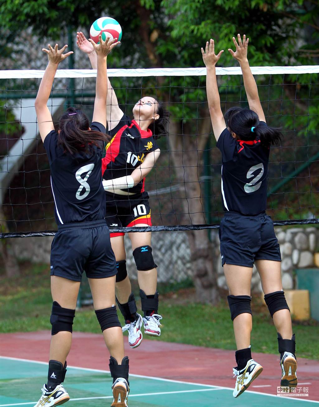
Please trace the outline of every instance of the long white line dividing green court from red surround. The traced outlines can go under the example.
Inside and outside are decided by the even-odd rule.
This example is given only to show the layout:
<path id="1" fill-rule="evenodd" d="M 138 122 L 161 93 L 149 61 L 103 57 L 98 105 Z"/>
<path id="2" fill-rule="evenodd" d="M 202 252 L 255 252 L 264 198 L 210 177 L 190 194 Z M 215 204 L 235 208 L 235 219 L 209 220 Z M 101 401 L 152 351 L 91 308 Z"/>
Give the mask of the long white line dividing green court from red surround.
<path id="1" fill-rule="evenodd" d="M 8 359 L 8 360 L 16 360 L 16 361 L 20 361 L 20 362 L 31 362 L 31 363 L 38 363 L 40 365 L 48 365 L 48 362 L 39 362 L 36 360 L 31 360 L 31 359 L 21 359 L 21 358 L 15 358 L 15 357 L 8 357 L 8 356 L 0 356 L 0 359 Z M 90 369 L 90 368 L 80 368 L 79 366 L 69 366 L 69 368 L 73 368 L 73 369 L 79 369 L 79 370 L 86 370 L 87 372 L 97 372 L 97 373 L 110 373 L 109 370 L 100 370 L 100 369 Z M 193 383 L 193 382 L 186 382 L 186 381 L 180 381 L 180 380 L 173 380 L 173 379 L 163 379 L 161 377 L 154 377 L 154 376 L 144 376 L 142 374 L 132 374 L 130 373 L 130 376 L 132 377 L 141 377 L 142 379 L 152 379 L 152 380 L 158 380 L 158 381 L 167 381 L 170 383 L 183 383 L 183 384 L 191 384 L 194 386 L 202 386 L 202 387 L 209 387 L 212 389 L 223 389 L 223 390 L 231 390 L 233 391 L 233 387 L 224 387 L 224 386 L 213 386 L 210 384 L 201 384 L 201 383 Z M 245 393 L 252 393 L 252 394 L 261 394 L 262 396 L 269 396 L 269 397 L 276 397 L 277 398 L 277 394 L 268 394 L 268 393 L 262 393 L 262 392 L 256 392 L 255 390 L 245 390 Z M 285 400 L 296 400 L 298 399 L 298 397 L 285 397 Z M 315 401 L 315 400 L 300 400 L 299 401 L 304 401 L 304 402 L 308 402 L 308 403 L 317 403 L 319 404 L 319 401 Z M 3 407 L 2 405 L 0 405 L 0 407 Z"/>

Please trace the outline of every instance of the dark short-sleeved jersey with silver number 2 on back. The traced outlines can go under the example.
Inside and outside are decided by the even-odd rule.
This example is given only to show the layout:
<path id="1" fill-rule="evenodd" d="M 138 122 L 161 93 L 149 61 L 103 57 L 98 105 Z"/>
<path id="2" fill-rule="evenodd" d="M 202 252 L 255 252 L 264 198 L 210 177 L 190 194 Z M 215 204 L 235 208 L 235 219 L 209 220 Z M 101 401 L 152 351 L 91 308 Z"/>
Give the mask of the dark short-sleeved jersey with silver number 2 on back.
<path id="1" fill-rule="evenodd" d="M 260 126 L 267 126 L 260 122 Z M 235 140 L 225 129 L 217 147 L 222 153 L 222 200 L 225 211 L 257 215 L 266 210 L 269 148 L 260 140 Z"/>

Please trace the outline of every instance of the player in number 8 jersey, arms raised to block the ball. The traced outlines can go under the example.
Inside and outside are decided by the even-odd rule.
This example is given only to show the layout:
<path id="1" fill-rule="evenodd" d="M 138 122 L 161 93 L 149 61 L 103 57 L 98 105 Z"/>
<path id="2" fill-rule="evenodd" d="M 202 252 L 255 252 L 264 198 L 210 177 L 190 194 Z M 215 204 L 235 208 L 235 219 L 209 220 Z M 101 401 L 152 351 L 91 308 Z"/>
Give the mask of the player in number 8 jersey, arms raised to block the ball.
<path id="1" fill-rule="evenodd" d="M 84 268 L 90 282 L 95 313 L 111 355 L 112 406 L 127 406 L 128 357 L 124 357 L 123 333 L 114 305 L 117 269 L 110 233 L 104 220 L 105 199 L 101 177 L 103 145 L 109 140 L 105 113 L 108 92 L 106 57 L 117 44 L 116 39 L 103 42 L 101 37 L 100 44 L 94 44 L 97 81 L 91 127 L 81 110 L 69 108 L 59 120 L 58 132 L 54 129 L 47 102 L 57 66 L 71 53 L 63 54 L 66 45 L 61 50 L 58 50 L 57 44 L 55 48 L 49 45 L 49 49 L 43 49 L 49 62 L 37 93 L 35 110 L 50 163 L 58 232 L 51 249 L 53 306 L 48 381 L 35 407 L 60 405 L 70 398 L 62 383 Z"/>

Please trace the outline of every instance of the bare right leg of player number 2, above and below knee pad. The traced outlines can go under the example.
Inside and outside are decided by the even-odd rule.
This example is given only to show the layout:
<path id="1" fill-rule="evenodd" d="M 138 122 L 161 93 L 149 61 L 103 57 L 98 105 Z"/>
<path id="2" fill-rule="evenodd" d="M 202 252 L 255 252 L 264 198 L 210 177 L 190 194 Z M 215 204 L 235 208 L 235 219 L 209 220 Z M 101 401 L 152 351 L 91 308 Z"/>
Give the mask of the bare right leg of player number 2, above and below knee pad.
<path id="1" fill-rule="evenodd" d="M 256 260 L 256 267 L 262 281 L 262 291 L 264 294 L 282 290 L 282 274 L 280 261 Z M 288 309 L 281 309 L 274 313 L 273 322 L 277 332 L 283 339 L 291 339 L 293 328 L 291 316 Z"/>

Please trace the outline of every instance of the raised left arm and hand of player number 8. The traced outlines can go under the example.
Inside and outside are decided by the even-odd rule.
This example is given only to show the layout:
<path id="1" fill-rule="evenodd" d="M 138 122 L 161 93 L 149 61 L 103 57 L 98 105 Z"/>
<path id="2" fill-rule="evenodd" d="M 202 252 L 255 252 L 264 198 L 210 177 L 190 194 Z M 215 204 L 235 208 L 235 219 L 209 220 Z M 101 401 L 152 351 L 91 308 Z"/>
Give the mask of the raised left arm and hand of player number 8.
<path id="1" fill-rule="evenodd" d="M 42 51 L 48 54 L 49 62 L 42 77 L 39 90 L 37 91 L 37 97 L 34 103 L 35 112 L 37 114 L 37 123 L 39 126 L 39 132 L 42 141 L 44 141 L 50 131 L 54 130 L 51 113 L 48 109 L 47 103 L 59 63 L 67 58 L 69 55 L 73 54 L 72 51 L 68 52 L 67 54 L 63 54 L 66 50 L 66 47 L 67 45 L 59 50 L 57 44 L 55 44 L 54 48 L 52 48 L 51 45 L 48 44 L 48 50 L 46 48 L 42 49 Z"/>

